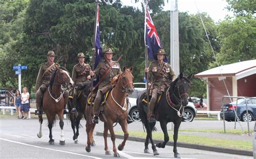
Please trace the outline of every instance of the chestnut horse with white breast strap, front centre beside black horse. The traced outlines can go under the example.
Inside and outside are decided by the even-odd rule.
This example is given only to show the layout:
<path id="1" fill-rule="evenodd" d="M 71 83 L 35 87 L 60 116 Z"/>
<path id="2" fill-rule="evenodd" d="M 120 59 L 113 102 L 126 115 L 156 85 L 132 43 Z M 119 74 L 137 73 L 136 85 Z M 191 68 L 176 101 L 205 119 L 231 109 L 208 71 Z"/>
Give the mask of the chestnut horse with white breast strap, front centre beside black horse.
<path id="1" fill-rule="evenodd" d="M 123 68 L 123 73 L 119 76 L 116 86 L 109 92 L 105 100 L 105 106 L 103 113 L 100 113 L 99 119 L 104 122 L 104 142 L 105 142 L 105 154 L 110 155 L 109 148 L 107 147 L 107 133 L 110 131 L 111 140 L 113 142 L 113 152 L 114 157 L 120 157 L 117 153 L 116 148 L 116 136 L 114 135 L 113 124 L 118 122 L 122 127 L 124 132 L 124 141 L 119 144 L 118 150 L 123 150 L 125 142 L 129 136 L 127 129 L 127 102 L 126 96 L 127 93 L 131 94 L 133 92 L 133 76 L 132 76 L 132 67 L 130 69 Z M 91 143 L 93 143 L 93 129 L 95 124 L 92 124 L 89 119 L 92 112 L 89 111 L 90 106 L 86 106 L 86 133 L 87 133 L 87 146 L 86 151 L 91 151 Z"/>

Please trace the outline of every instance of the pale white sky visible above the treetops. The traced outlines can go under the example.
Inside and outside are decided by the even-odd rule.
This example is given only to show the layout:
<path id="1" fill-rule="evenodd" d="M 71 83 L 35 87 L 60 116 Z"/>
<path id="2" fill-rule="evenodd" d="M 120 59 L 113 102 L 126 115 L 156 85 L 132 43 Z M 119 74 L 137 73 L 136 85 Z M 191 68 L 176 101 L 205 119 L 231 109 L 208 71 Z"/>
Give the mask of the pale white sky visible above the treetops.
<path id="1" fill-rule="evenodd" d="M 141 3 L 134 3 L 134 0 L 121 0 L 123 5 L 129 5 L 141 8 Z M 140 0 L 142 2 L 144 0 Z M 224 20 L 226 15 L 233 16 L 232 12 L 228 12 L 225 7 L 227 2 L 225 0 L 177 0 L 178 10 L 180 12 L 188 12 L 197 14 L 199 12 L 206 12 L 215 22 Z M 165 0 L 164 10 L 170 10 L 171 0 L 167 3 Z"/>

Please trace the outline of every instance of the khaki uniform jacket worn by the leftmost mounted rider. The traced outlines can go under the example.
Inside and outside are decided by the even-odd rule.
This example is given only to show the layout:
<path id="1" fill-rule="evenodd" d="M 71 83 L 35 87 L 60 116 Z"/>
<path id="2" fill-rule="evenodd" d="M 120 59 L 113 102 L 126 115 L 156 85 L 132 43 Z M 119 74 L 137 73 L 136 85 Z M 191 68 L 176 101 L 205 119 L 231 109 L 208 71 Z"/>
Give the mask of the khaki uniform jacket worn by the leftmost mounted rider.
<path id="1" fill-rule="evenodd" d="M 45 62 L 41 64 L 38 71 L 37 79 L 36 79 L 36 90 L 38 90 L 42 84 L 48 85 L 50 83 L 52 71 L 56 69 L 56 67 L 53 66 L 48 71 L 48 73 L 44 74 L 45 70 L 48 69 L 48 67 L 50 66 L 51 64 L 49 62 Z M 43 74 L 44 74 L 44 77 L 43 77 Z"/>

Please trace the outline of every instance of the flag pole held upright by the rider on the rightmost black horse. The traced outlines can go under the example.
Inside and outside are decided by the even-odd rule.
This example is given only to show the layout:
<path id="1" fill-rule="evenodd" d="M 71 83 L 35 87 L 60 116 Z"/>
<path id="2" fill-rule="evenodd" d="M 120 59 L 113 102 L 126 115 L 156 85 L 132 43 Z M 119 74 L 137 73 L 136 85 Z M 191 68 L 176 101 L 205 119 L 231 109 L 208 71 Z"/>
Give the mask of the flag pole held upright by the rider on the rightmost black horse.
<path id="1" fill-rule="evenodd" d="M 148 61 L 148 57 L 147 57 L 147 45 L 146 45 L 146 25 L 147 25 L 147 21 L 146 21 L 146 12 L 147 10 L 147 0 L 145 0 L 145 21 L 144 21 L 144 42 L 145 42 L 145 67 L 147 68 L 147 61 Z M 150 113 L 150 107 L 149 107 L 149 73 L 145 73 L 146 75 L 146 89 L 147 89 L 147 114 Z"/>

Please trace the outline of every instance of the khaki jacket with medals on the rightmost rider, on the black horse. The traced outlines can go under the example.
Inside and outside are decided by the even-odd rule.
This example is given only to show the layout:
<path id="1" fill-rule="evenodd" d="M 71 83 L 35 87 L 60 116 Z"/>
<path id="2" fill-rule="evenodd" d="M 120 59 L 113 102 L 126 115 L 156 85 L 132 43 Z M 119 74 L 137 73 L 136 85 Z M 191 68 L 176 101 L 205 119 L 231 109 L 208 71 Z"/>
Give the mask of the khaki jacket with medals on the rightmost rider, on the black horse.
<path id="1" fill-rule="evenodd" d="M 163 64 L 165 65 L 163 67 Z M 153 82 L 155 88 L 159 88 L 164 83 L 170 83 L 174 78 L 174 72 L 169 63 L 163 62 L 163 64 L 158 64 L 158 61 L 153 61 L 149 66 L 149 82 Z M 163 69 L 160 71 L 160 69 Z M 160 71 L 160 74 L 158 72 Z"/>

